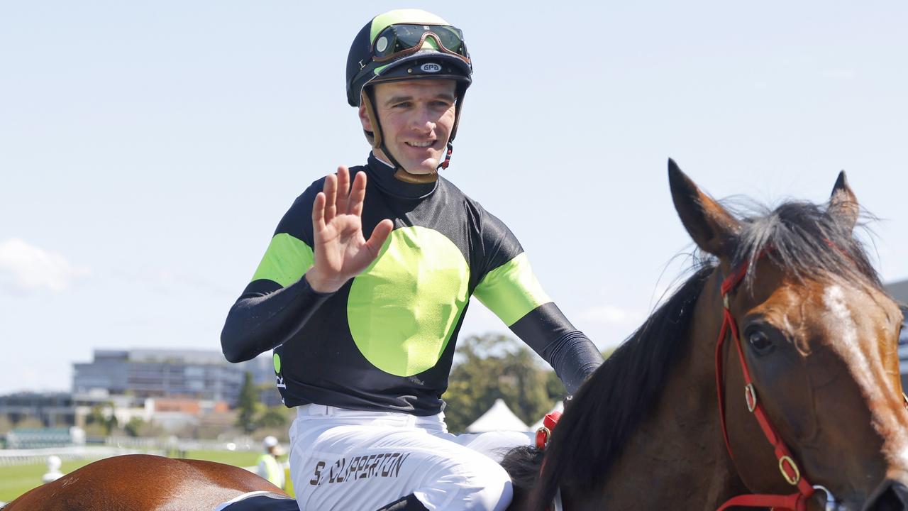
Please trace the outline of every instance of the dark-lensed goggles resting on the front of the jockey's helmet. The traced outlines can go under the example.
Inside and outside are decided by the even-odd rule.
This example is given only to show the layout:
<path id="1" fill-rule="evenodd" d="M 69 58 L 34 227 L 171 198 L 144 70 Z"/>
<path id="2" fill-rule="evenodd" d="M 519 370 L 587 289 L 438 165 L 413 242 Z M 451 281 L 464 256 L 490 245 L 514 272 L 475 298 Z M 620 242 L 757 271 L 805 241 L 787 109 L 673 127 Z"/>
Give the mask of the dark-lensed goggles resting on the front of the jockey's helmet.
<path id="1" fill-rule="evenodd" d="M 439 45 L 439 51 L 457 56 L 469 64 L 467 45 L 463 32 L 450 25 L 390 25 L 382 30 L 372 44 L 372 60 L 387 62 L 418 52 L 426 39 L 431 37 Z"/>

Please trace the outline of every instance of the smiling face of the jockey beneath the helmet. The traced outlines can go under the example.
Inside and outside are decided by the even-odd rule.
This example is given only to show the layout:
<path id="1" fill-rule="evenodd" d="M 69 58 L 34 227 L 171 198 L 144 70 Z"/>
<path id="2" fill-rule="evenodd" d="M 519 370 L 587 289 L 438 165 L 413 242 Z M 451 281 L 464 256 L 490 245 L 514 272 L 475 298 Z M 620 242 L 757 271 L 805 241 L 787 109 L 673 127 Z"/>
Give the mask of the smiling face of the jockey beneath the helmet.
<path id="1" fill-rule="evenodd" d="M 375 110 L 390 155 L 410 174 L 431 174 L 444 158 L 454 126 L 454 80 L 408 80 L 374 86 Z M 374 131 L 365 108 L 360 122 Z M 388 160 L 380 149 L 375 154 Z"/>

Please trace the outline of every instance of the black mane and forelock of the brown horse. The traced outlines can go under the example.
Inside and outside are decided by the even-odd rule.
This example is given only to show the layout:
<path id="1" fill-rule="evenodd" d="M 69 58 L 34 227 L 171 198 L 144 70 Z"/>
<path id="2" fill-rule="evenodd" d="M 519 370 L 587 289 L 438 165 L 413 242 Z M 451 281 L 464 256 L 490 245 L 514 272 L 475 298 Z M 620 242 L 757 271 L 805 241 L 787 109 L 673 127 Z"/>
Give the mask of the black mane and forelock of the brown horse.
<path id="1" fill-rule="evenodd" d="M 742 220 L 734 264 L 751 262 L 745 285 L 753 282 L 755 260 L 765 256 L 796 279 L 844 278 L 882 289 L 851 227 L 824 206 L 786 202 Z M 661 395 L 670 367 L 687 349 L 694 306 L 715 268 L 715 259 L 695 258 L 694 274 L 581 387 L 555 429 L 535 484 L 542 461 L 535 447 L 515 450 L 502 462 L 518 487 L 537 486 L 539 509 L 551 501 L 559 482 L 581 491 L 604 484 L 609 467 Z"/>

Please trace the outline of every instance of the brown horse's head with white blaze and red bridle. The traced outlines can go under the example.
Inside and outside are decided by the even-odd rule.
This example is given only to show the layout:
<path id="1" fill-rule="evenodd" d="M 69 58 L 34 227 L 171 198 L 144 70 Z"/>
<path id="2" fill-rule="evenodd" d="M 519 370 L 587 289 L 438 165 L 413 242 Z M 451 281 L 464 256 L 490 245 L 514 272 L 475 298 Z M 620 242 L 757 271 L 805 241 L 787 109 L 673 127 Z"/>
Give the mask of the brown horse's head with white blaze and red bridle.
<path id="1" fill-rule="evenodd" d="M 718 258 L 716 286 L 725 281 L 738 339 L 728 334 L 717 359 L 727 441 L 745 486 L 791 494 L 809 481 L 828 488 L 840 509 L 908 509 L 903 315 L 854 239 L 858 205 L 844 174 L 824 207 L 786 203 L 743 220 L 674 162 L 669 179 L 687 232 Z M 714 296 L 722 318 L 722 293 Z M 745 390 L 747 373 L 753 391 Z M 765 439 L 775 433 L 787 454 Z M 821 498 L 810 501 L 822 508 Z"/>

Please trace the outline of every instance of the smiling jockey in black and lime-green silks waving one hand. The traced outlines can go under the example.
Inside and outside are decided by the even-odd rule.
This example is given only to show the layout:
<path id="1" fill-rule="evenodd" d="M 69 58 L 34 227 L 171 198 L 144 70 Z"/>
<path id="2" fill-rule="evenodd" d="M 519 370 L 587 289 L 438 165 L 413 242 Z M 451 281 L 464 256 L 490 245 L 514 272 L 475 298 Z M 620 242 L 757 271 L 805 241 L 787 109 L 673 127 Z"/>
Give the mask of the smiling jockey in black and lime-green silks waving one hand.
<path id="1" fill-rule="evenodd" d="M 498 461 L 529 434 L 452 435 L 442 412 L 470 296 L 568 392 L 602 362 L 508 227 L 439 176 L 471 75 L 463 34 L 437 15 L 395 10 L 363 26 L 347 101 L 370 155 L 297 198 L 227 316 L 224 355 L 240 362 L 273 349 L 281 397 L 296 408 L 301 509 L 508 506 Z"/>

